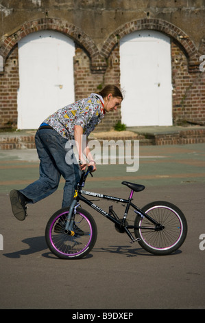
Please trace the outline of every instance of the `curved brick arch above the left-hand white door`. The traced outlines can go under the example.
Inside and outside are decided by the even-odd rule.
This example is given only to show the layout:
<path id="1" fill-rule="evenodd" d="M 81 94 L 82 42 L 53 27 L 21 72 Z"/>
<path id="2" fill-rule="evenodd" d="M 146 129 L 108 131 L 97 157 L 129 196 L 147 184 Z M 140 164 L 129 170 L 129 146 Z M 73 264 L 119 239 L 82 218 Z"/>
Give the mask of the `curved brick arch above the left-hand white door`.
<path id="1" fill-rule="evenodd" d="M 80 30 L 80 28 L 60 19 L 43 18 L 23 24 L 19 30 L 14 32 L 14 34 L 5 38 L 5 41 L 0 48 L 0 56 L 3 57 L 3 62 L 5 63 L 10 51 L 23 37 L 40 30 L 54 30 L 56 32 L 62 32 L 62 34 L 69 36 L 73 41 L 84 47 L 91 58 L 99 54 L 97 46 L 93 40 Z"/>

